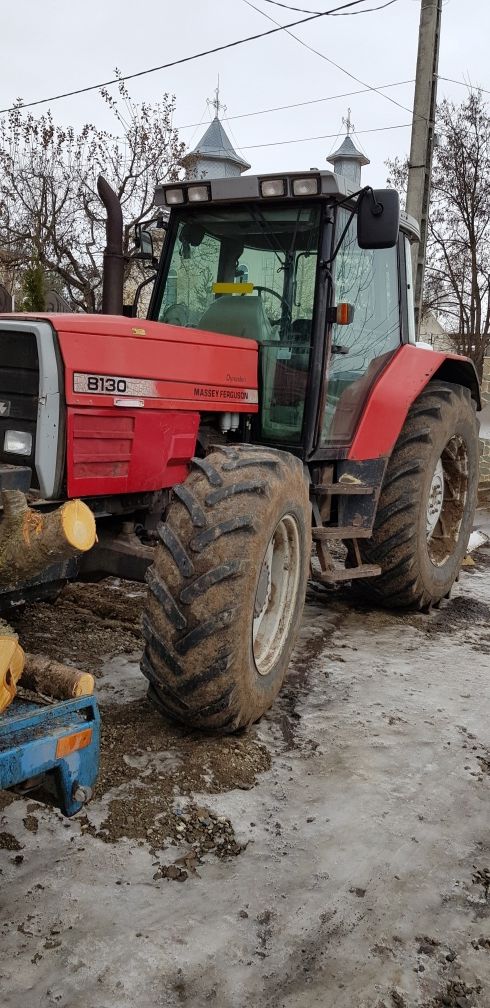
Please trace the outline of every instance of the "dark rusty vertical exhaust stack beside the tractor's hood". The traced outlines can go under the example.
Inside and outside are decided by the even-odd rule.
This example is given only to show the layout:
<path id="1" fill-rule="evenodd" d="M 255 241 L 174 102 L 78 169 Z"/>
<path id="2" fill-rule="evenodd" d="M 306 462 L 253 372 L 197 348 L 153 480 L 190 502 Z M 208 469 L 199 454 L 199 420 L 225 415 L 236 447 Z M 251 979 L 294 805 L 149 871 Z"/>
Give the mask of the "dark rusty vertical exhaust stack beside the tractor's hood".
<path id="1" fill-rule="evenodd" d="M 123 313 L 124 255 L 123 217 L 119 199 L 103 175 L 97 179 L 97 192 L 106 208 L 106 241 L 102 283 L 102 313 Z"/>

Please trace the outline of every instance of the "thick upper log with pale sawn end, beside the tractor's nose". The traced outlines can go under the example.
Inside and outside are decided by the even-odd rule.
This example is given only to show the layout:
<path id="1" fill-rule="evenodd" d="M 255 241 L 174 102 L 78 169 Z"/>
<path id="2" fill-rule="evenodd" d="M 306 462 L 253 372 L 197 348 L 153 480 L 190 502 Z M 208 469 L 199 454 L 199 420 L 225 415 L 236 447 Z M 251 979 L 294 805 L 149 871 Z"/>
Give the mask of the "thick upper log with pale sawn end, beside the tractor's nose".
<path id="1" fill-rule="evenodd" d="M 29 508 L 20 490 L 4 490 L 1 501 L 2 589 L 15 589 L 53 563 L 86 552 L 96 542 L 95 518 L 83 501 L 67 501 L 48 512 Z"/>

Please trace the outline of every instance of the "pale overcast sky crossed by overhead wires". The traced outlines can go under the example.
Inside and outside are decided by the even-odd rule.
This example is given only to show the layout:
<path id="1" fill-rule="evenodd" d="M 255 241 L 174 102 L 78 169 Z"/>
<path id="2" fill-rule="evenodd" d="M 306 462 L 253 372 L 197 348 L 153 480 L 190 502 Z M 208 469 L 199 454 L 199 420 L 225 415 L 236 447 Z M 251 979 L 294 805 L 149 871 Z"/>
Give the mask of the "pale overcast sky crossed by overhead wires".
<path id="1" fill-rule="evenodd" d="M 344 0 L 284 2 L 315 11 L 340 6 Z M 364 0 L 362 6 L 383 2 Z M 4 0 L 8 14 L 4 13 L 2 25 L 0 107 L 18 97 L 28 102 L 97 84 L 111 78 L 116 67 L 129 74 L 264 31 L 273 27 L 271 17 L 285 24 L 305 16 L 268 0 L 253 0 L 253 4 L 257 10 L 245 0 L 145 0 L 139 4 L 134 0 L 16 0 L 6 4 Z M 380 87 L 413 79 L 419 10 L 420 0 L 396 0 L 375 13 L 324 17 L 292 30 L 364 84 Z M 490 89 L 489 38 L 489 0 L 445 0 L 440 75 Z M 342 118 L 348 107 L 356 139 L 371 159 L 364 169 L 365 181 L 383 184 L 386 158 L 408 151 L 409 111 L 373 92 L 246 115 L 362 87 L 285 32 L 159 71 L 131 82 L 129 88 L 137 101 L 153 102 L 164 92 L 174 94 L 175 126 L 180 138 L 194 146 L 212 117 L 206 99 L 213 98 L 218 74 L 227 106 L 222 118 L 254 171 L 327 166 L 336 134 L 344 133 Z M 411 108 L 412 84 L 385 93 Z M 461 102 L 467 94 L 464 87 L 440 82 L 440 98 Z M 56 121 L 75 127 L 85 121 L 111 125 L 97 92 L 53 102 L 51 111 Z M 191 126 L 201 122 L 202 126 Z M 403 128 L 386 129 L 391 126 Z M 363 132 L 373 129 L 380 131 Z M 324 138 L 307 139 L 320 136 Z"/>

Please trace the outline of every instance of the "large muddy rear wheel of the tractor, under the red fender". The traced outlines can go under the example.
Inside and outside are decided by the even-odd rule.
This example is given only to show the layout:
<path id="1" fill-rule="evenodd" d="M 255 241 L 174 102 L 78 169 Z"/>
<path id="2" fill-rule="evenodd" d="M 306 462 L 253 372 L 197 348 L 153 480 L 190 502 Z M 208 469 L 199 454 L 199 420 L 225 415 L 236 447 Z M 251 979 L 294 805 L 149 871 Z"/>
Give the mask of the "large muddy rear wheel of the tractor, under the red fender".
<path id="1" fill-rule="evenodd" d="M 470 392 L 434 381 L 411 406 L 389 460 L 373 535 L 358 540 L 379 577 L 356 594 L 388 609 L 430 610 L 449 596 L 473 527 L 479 424 Z M 348 565 L 355 565 L 348 546 Z"/>

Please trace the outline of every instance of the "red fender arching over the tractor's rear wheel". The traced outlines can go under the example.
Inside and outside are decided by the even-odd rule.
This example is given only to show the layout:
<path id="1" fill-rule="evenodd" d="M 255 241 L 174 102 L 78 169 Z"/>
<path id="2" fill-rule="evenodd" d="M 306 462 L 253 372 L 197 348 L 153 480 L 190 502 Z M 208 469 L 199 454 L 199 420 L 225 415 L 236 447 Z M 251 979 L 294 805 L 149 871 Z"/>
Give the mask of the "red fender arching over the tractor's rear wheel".
<path id="1" fill-rule="evenodd" d="M 404 344 L 371 388 L 348 458 L 353 462 L 387 459 L 412 402 L 436 378 L 469 388 L 477 409 L 481 409 L 480 386 L 473 361 L 458 354 Z"/>

